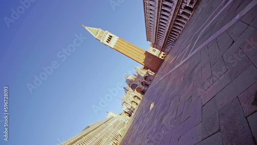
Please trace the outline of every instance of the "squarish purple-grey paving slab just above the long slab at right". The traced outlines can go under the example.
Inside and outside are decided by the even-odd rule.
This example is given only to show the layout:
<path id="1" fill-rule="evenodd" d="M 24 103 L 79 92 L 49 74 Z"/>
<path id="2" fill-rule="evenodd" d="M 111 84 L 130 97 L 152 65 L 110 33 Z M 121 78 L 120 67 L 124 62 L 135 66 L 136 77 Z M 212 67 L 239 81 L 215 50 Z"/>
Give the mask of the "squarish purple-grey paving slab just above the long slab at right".
<path id="1" fill-rule="evenodd" d="M 245 52 L 239 47 L 235 48 L 234 51 L 229 52 L 230 53 L 224 54 L 224 56 L 226 56 L 224 57 L 224 61 L 231 79 L 234 80 L 252 63 L 246 56 Z"/>

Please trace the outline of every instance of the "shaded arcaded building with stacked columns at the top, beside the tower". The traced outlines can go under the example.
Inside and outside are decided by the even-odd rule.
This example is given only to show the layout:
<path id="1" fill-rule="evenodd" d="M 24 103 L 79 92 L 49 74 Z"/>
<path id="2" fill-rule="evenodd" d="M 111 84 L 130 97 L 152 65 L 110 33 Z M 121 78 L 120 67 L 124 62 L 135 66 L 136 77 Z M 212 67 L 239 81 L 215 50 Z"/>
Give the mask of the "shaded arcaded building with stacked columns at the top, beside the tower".
<path id="1" fill-rule="evenodd" d="M 168 54 L 196 4 L 197 0 L 143 0 L 146 40 Z"/>

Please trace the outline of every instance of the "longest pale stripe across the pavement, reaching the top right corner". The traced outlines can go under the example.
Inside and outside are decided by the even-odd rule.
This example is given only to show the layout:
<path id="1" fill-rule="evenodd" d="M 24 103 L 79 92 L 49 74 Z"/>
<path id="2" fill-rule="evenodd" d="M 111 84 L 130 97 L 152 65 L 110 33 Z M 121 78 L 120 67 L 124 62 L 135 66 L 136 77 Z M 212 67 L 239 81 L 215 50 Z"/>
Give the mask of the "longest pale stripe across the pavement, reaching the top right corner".
<path id="1" fill-rule="evenodd" d="M 230 0 L 229 2 L 231 3 Z M 230 26 L 232 26 L 235 22 L 237 22 L 242 16 L 245 15 L 246 12 L 248 12 L 250 9 L 252 9 L 257 4 L 257 0 L 253 0 L 250 4 L 248 4 L 242 11 L 240 11 L 231 21 L 229 21 L 225 26 L 223 26 L 221 29 L 219 29 L 216 33 L 214 33 L 209 39 L 207 39 L 204 43 L 202 43 L 199 47 L 197 47 L 186 59 L 184 59 L 182 62 L 180 62 L 177 66 L 175 66 L 172 70 L 170 70 L 166 75 L 164 75 L 162 78 L 160 78 L 157 82 L 151 85 L 154 86 L 157 84 L 160 80 L 162 80 L 164 77 L 169 75 L 173 70 L 175 70 L 177 67 L 179 67 L 181 64 L 185 63 L 188 59 L 190 59 L 198 50 L 206 46 L 208 43 L 210 43 L 212 40 L 218 37 L 221 33 L 223 33 L 225 30 L 227 30 Z M 225 6 L 224 6 L 225 7 Z M 223 7 L 223 8 L 224 8 Z M 246 9 L 247 8 L 247 9 Z M 242 13 L 240 15 L 240 13 Z M 218 13 L 219 14 L 219 13 Z M 235 21 L 236 20 L 236 21 Z M 215 37 L 214 37 L 215 36 Z M 204 44 L 204 45 L 203 45 Z"/>

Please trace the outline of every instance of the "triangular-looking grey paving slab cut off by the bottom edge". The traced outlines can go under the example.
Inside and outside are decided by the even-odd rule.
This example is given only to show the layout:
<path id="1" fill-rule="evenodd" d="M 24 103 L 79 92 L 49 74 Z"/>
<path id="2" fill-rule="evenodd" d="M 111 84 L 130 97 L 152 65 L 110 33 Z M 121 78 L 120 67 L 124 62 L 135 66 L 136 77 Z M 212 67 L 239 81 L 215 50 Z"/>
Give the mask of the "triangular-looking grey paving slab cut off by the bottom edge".
<path id="1" fill-rule="evenodd" d="M 202 132 L 203 135 L 203 132 Z M 196 145 L 222 145 L 222 134 L 221 132 L 217 132 L 214 135 L 206 138 L 205 140 L 202 140 L 198 143 L 196 143 Z"/>

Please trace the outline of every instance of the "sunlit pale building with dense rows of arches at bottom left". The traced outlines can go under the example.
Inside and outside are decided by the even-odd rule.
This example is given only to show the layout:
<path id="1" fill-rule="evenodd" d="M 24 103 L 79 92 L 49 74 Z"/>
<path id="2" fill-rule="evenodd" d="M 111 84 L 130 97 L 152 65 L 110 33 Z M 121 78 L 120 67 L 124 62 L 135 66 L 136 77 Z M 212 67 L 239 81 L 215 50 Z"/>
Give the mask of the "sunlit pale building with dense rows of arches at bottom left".
<path id="1" fill-rule="evenodd" d="M 96 121 L 60 145 L 88 145 L 88 144 L 117 144 L 126 127 L 128 116 L 124 113 L 120 115 L 109 112 L 105 120 Z"/>

